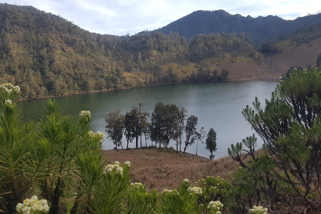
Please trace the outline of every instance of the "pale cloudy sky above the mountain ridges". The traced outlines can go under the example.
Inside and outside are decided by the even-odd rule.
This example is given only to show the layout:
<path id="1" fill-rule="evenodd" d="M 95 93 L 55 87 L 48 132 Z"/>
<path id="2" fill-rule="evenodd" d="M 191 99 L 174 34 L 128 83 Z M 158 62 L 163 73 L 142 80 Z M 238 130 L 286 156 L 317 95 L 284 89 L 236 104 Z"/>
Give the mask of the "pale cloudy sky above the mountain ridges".
<path id="1" fill-rule="evenodd" d="M 155 30 L 196 10 L 295 19 L 321 12 L 320 0 L 0 0 L 32 5 L 90 32 L 123 36 Z"/>

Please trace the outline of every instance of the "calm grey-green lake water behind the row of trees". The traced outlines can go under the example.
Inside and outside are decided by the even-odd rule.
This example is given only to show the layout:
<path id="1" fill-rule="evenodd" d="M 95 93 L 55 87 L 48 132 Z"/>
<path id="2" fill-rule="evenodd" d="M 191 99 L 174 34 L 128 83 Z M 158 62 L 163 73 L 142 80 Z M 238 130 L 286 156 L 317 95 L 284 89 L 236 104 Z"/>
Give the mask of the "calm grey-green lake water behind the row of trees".
<path id="1" fill-rule="evenodd" d="M 256 96 L 264 106 L 265 99 L 270 98 L 276 85 L 277 82 L 267 81 L 192 83 L 79 94 L 58 97 L 56 100 L 64 114 L 78 115 L 81 110 L 89 110 L 92 129 L 106 135 L 105 116 L 111 111 L 120 108 L 122 114 L 125 114 L 132 106 L 143 102 L 143 110 L 151 113 L 158 101 L 176 104 L 187 109 L 188 115 L 194 114 L 198 117 L 197 129 L 204 126 L 208 132 L 211 127 L 214 128 L 217 136 L 217 150 L 214 155 L 215 158 L 220 158 L 227 155 L 227 148 L 231 143 L 240 142 L 254 133 L 244 121 L 241 113 L 243 108 L 246 105 L 251 107 Z M 44 102 L 45 99 L 30 100 L 19 102 L 18 105 L 25 119 L 37 120 Z M 203 141 L 204 144 L 198 144 L 197 154 L 208 158 L 210 153 L 205 149 L 205 139 Z M 125 145 L 125 138 L 123 142 Z M 145 144 L 144 136 L 142 142 Z M 147 145 L 150 144 L 151 142 L 147 141 Z M 259 139 L 259 147 L 261 145 L 262 140 Z M 130 146 L 135 147 L 135 140 Z M 176 148 L 174 141 L 171 141 L 169 146 Z M 104 148 L 113 147 L 114 144 L 105 139 Z M 187 152 L 195 154 L 196 144 L 190 146 Z"/>

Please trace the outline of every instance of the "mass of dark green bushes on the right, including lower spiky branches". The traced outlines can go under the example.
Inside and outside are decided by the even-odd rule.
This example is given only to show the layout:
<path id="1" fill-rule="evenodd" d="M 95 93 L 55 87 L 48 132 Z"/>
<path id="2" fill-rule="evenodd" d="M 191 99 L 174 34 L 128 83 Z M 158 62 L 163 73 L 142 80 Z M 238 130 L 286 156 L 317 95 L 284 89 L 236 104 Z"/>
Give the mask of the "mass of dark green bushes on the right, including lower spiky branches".
<path id="1" fill-rule="evenodd" d="M 253 108 L 243 109 L 244 118 L 264 146 L 263 154 L 255 155 L 253 135 L 229 148 L 229 155 L 242 166 L 232 181 L 243 194 L 237 200 L 236 213 L 245 213 L 255 201 L 272 213 L 285 206 L 293 212 L 321 211 L 320 84 L 321 69 L 294 69 L 272 92 L 265 107 L 255 98 Z M 244 162 L 243 154 L 251 160 Z"/>

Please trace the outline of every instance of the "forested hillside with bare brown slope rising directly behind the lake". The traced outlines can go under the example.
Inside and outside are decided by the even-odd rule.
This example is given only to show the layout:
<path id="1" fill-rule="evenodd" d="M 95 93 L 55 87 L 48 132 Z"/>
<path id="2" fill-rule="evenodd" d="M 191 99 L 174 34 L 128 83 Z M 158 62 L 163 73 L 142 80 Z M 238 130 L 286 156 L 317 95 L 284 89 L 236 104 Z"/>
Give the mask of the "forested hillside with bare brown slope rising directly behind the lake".
<path id="1" fill-rule="evenodd" d="M 311 22 L 317 18 L 311 16 Z M 0 83 L 19 85 L 21 99 L 34 99 L 157 84 L 277 78 L 293 65 L 316 62 L 319 27 L 309 27 L 308 35 L 314 35 L 308 37 L 310 43 L 303 35 L 304 42 L 285 45 L 290 36 L 285 35 L 278 42 L 288 50 L 266 54 L 243 34 L 197 35 L 190 41 L 178 33 L 100 35 L 32 6 L 1 3 Z M 293 57 L 302 55 L 307 57 Z"/>

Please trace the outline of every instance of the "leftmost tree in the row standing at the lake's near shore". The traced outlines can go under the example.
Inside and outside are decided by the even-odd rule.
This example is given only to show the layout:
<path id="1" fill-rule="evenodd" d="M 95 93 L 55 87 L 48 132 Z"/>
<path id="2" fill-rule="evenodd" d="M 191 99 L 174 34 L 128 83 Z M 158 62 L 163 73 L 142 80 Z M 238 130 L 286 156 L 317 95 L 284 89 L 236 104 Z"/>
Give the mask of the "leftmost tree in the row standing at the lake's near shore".
<path id="1" fill-rule="evenodd" d="M 124 132 L 124 121 L 125 121 L 125 116 L 120 115 L 121 109 L 117 109 L 113 112 L 110 112 L 106 115 L 105 117 L 105 122 L 106 122 L 106 132 L 108 134 L 108 138 L 113 141 L 113 143 L 116 145 L 116 150 L 117 146 L 122 146 L 122 138 L 123 138 L 123 132 Z"/>

